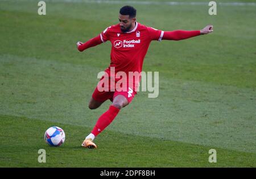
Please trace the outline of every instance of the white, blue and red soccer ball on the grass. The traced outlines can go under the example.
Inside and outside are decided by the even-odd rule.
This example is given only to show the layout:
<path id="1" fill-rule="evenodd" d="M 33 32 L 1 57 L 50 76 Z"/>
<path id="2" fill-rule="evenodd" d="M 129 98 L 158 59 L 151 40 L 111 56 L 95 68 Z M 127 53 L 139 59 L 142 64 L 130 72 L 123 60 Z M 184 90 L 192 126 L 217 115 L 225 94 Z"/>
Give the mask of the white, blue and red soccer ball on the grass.
<path id="1" fill-rule="evenodd" d="M 46 143 L 49 145 L 60 146 L 65 141 L 65 132 L 60 127 L 50 127 L 44 134 L 44 140 L 46 140 Z"/>

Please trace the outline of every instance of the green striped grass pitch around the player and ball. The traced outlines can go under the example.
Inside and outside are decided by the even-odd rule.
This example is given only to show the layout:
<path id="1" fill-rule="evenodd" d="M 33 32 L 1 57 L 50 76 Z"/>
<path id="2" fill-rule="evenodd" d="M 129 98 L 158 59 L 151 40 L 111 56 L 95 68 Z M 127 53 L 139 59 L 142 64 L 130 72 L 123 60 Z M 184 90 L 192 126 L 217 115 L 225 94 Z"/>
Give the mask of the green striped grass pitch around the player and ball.
<path id="1" fill-rule="evenodd" d="M 111 45 L 81 53 L 76 42 L 118 23 L 126 3 L 46 1 L 40 16 L 38 1 L 0 1 L 0 167 L 256 167 L 255 6 L 218 5 L 209 15 L 204 4 L 161 2 L 131 3 L 138 22 L 214 32 L 153 41 L 143 70 L 159 72 L 159 97 L 139 92 L 90 150 L 82 140 L 110 102 L 97 110 L 88 102 Z M 51 126 L 65 131 L 61 147 L 43 139 Z M 208 161 L 212 148 L 217 163 Z"/>

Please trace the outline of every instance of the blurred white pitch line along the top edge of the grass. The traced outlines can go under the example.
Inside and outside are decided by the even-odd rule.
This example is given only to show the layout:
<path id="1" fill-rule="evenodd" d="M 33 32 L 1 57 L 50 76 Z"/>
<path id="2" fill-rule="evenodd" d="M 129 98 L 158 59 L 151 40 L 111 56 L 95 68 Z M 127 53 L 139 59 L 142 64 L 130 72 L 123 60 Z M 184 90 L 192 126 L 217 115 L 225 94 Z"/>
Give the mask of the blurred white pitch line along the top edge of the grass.
<path id="1" fill-rule="evenodd" d="M 8 0 L 0 0 L 8 1 Z M 19 0 L 19 1 L 34 1 L 34 0 Z M 208 6 L 210 2 L 176 2 L 176 1 L 166 1 L 166 2 L 157 2 L 157 1 L 113 1 L 113 0 L 44 0 L 45 2 L 64 2 L 64 3 L 105 3 L 105 4 L 136 4 L 136 5 L 168 5 L 168 6 L 177 6 L 177 5 L 191 5 L 191 6 Z M 255 2 L 216 2 L 220 6 L 256 6 Z"/>

